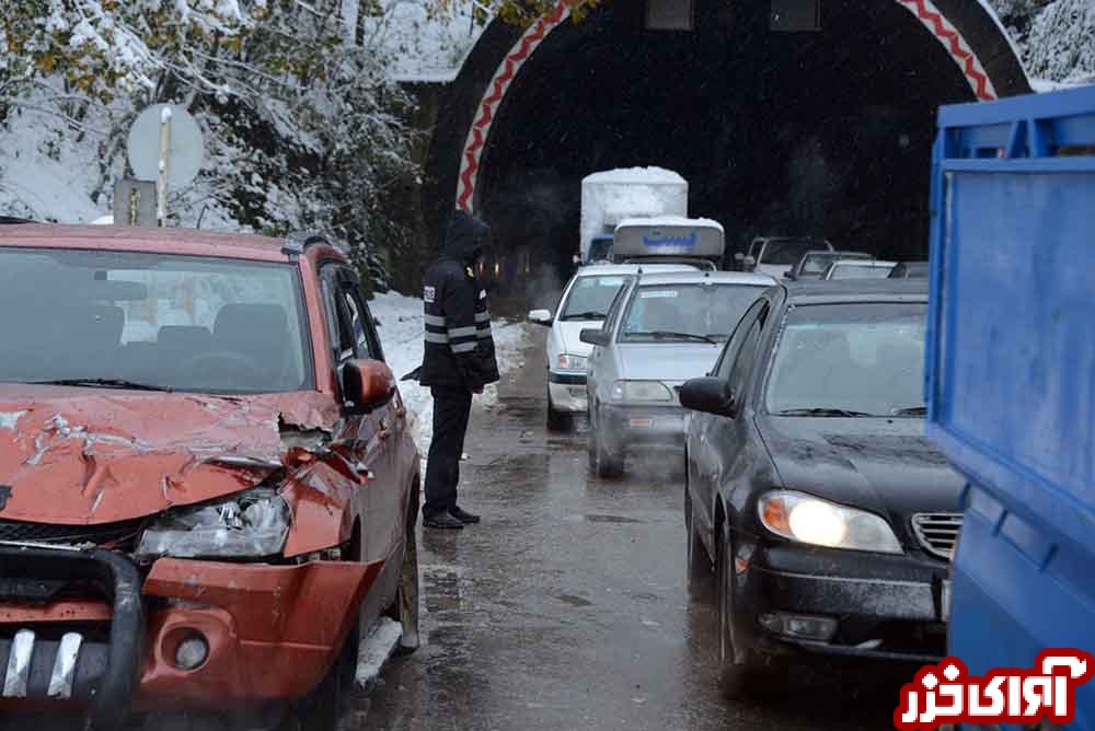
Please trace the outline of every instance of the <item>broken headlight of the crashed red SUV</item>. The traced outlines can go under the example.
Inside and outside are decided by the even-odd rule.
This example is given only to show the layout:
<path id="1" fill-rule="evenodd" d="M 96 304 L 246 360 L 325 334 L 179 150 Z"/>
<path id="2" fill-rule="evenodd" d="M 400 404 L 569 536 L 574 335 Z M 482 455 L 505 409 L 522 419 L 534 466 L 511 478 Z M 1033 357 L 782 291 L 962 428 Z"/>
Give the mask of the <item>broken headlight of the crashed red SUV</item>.
<path id="1" fill-rule="evenodd" d="M 180 508 L 146 529 L 137 558 L 262 558 L 281 553 L 289 506 L 260 487 L 220 502 Z"/>

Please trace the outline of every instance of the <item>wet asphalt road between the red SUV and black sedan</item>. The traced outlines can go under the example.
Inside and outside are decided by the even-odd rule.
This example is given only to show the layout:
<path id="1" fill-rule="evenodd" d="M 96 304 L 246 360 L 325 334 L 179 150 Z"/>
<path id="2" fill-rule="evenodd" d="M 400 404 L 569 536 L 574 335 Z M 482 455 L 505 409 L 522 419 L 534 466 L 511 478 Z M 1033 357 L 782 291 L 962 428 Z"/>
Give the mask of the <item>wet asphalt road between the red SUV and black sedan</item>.
<path id="1" fill-rule="evenodd" d="M 716 688 L 712 596 L 684 590 L 682 478 L 670 460 L 588 472 L 586 427 L 544 428 L 543 351 L 476 409 L 462 507 L 484 523 L 419 542 L 422 649 L 369 701 L 377 731 L 891 729 L 914 669 L 796 669 L 786 689 Z"/>

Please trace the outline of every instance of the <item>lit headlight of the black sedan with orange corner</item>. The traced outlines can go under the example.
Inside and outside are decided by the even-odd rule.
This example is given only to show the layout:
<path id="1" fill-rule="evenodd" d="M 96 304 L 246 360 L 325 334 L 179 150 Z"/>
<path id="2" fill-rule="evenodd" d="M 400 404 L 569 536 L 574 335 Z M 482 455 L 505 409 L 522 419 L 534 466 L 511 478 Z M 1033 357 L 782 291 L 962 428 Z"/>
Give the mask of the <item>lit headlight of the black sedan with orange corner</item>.
<path id="1" fill-rule="evenodd" d="M 788 541 L 827 548 L 903 553 L 889 523 L 864 510 L 787 490 L 762 496 L 757 510 L 764 527 Z"/>

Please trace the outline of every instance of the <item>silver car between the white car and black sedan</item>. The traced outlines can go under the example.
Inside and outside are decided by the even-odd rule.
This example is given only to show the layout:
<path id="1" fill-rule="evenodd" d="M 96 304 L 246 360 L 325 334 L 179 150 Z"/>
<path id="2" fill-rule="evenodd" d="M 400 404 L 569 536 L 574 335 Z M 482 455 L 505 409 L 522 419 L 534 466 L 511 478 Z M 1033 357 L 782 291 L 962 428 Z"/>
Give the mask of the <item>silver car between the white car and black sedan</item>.
<path id="1" fill-rule="evenodd" d="M 774 285 L 766 275 L 727 271 L 639 275 L 601 329 L 581 332 L 593 346 L 586 394 L 599 476 L 622 474 L 636 448 L 669 448 L 683 459 L 678 390 L 711 370 L 738 321 Z"/>

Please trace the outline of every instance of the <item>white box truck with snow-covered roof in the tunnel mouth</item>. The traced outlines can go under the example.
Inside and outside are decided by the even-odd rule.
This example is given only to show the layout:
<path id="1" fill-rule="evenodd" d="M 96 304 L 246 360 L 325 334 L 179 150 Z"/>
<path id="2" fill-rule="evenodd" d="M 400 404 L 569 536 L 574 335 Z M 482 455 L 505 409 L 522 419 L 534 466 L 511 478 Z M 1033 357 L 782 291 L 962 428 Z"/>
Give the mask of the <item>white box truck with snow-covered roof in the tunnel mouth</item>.
<path id="1" fill-rule="evenodd" d="M 627 219 L 688 216 L 688 181 L 660 167 L 593 173 L 581 182 L 581 263 L 609 258 L 604 248 Z"/>

